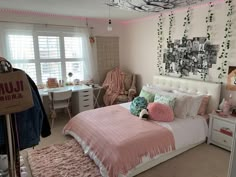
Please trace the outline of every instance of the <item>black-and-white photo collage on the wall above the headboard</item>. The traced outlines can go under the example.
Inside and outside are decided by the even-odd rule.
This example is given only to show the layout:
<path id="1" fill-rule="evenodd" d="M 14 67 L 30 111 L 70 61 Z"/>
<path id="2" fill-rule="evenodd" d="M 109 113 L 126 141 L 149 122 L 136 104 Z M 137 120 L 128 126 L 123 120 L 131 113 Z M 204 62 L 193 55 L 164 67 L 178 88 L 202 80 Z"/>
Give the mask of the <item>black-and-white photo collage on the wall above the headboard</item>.
<path id="1" fill-rule="evenodd" d="M 182 38 L 169 42 L 164 50 L 165 73 L 180 77 L 206 74 L 216 64 L 219 45 L 211 44 L 206 37 Z"/>

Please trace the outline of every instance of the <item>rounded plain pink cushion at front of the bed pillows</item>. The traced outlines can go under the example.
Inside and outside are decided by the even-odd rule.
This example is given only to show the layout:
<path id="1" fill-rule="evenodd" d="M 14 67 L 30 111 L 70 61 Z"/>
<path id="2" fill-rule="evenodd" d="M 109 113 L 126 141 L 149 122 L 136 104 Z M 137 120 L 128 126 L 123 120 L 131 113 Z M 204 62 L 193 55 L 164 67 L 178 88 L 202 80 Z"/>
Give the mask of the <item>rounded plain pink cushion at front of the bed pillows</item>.
<path id="1" fill-rule="evenodd" d="M 149 103 L 147 108 L 150 119 L 161 122 L 171 122 L 174 120 L 174 112 L 168 105 L 154 102 Z"/>

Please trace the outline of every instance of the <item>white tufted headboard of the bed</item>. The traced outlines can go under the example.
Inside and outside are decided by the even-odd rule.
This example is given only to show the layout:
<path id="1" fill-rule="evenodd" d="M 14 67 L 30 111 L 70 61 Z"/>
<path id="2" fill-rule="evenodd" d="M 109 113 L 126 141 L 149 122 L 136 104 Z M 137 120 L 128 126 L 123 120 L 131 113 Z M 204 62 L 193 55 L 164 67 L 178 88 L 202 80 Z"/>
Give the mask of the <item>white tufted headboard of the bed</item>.
<path id="1" fill-rule="evenodd" d="M 153 84 L 185 92 L 211 95 L 207 108 L 208 113 L 216 110 L 220 102 L 220 83 L 156 75 L 153 77 Z"/>

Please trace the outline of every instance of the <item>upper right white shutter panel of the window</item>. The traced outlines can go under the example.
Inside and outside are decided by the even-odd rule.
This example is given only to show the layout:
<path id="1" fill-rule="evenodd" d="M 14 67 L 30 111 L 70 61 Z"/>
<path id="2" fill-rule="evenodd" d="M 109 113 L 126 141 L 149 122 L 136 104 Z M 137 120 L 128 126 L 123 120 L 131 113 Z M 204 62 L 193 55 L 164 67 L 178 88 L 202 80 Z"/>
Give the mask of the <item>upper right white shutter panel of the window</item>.
<path id="1" fill-rule="evenodd" d="M 82 38 L 81 37 L 64 37 L 65 57 L 82 58 Z"/>

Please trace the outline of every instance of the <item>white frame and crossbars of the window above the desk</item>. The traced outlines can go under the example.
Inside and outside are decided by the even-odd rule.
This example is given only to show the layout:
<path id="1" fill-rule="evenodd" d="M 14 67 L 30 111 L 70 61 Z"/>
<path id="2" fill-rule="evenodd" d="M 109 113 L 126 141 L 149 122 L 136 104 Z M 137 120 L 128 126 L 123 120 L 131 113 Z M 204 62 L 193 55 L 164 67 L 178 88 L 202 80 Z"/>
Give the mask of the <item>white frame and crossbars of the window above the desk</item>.
<path id="1" fill-rule="evenodd" d="M 9 44 L 9 38 L 8 35 L 31 35 L 33 38 L 33 49 L 34 49 L 34 59 L 30 60 L 13 60 L 11 58 L 10 54 L 10 44 Z M 39 50 L 39 36 L 56 36 L 59 37 L 59 50 L 60 50 L 60 58 L 55 59 L 45 59 L 45 58 L 40 58 L 40 50 Z M 62 32 L 62 31 L 30 31 L 30 30 L 12 30 L 9 29 L 5 32 L 5 51 L 6 51 L 6 56 L 9 58 L 9 61 L 14 65 L 14 64 L 24 64 L 24 63 L 34 63 L 35 64 L 35 72 L 36 72 L 36 79 L 37 79 L 37 84 L 46 84 L 43 83 L 42 81 L 42 73 L 41 73 L 41 63 L 50 63 L 50 62 L 61 62 L 61 77 L 62 78 L 57 78 L 57 79 L 63 79 L 67 80 L 67 71 L 66 71 L 66 62 L 79 62 L 82 61 L 84 62 L 85 55 L 82 53 L 81 58 L 66 58 L 65 57 L 65 43 L 64 43 L 64 37 L 80 37 L 82 40 L 82 52 L 83 52 L 83 45 L 84 45 L 84 38 L 83 35 L 78 33 L 78 32 Z M 84 72 L 84 64 L 82 65 L 82 71 Z M 84 73 L 82 73 L 84 75 Z M 84 79 L 84 78 L 83 78 Z"/>

